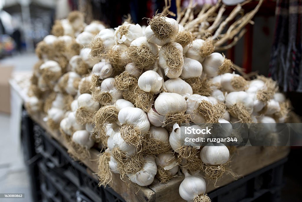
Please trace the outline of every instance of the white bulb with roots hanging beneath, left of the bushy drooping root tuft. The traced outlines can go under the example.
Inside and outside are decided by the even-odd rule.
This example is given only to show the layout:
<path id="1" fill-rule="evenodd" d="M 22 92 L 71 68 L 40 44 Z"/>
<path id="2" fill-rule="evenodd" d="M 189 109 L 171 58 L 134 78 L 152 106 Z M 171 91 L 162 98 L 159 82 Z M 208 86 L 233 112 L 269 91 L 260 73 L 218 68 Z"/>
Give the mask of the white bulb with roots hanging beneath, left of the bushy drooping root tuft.
<path id="1" fill-rule="evenodd" d="M 95 111 L 98 111 L 100 104 L 92 100 L 91 94 L 84 93 L 78 97 L 79 108 L 76 110 L 76 121 L 79 124 L 92 123 Z"/>

